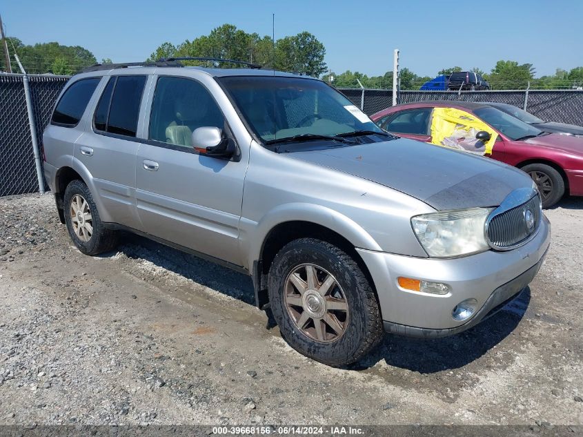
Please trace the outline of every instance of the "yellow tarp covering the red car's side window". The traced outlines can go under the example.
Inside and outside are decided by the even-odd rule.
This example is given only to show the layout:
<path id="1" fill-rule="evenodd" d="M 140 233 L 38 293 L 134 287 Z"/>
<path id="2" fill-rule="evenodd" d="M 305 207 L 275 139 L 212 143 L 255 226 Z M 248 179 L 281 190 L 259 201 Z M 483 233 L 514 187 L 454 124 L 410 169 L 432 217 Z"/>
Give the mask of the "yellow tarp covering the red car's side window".
<path id="1" fill-rule="evenodd" d="M 486 130 L 491 135 L 487 142 L 478 142 L 475 134 Z M 437 146 L 457 148 L 489 155 L 498 134 L 480 119 L 455 108 L 434 108 L 431 120 L 431 142 Z"/>

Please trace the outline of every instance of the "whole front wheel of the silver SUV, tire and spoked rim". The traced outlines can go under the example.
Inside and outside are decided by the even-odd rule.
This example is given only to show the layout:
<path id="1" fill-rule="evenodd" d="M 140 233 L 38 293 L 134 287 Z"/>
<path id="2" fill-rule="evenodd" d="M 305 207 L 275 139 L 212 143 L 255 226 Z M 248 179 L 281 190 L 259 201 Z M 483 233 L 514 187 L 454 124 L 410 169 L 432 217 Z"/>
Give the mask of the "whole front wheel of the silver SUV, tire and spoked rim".
<path id="1" fill-rule="evenodd" d="M 340 367 L 382 338 L 375 292 L 357 262 L 333 244 L 301 238 L 275 256 L 270 307 L 281 336 L 299 353 Z"/>

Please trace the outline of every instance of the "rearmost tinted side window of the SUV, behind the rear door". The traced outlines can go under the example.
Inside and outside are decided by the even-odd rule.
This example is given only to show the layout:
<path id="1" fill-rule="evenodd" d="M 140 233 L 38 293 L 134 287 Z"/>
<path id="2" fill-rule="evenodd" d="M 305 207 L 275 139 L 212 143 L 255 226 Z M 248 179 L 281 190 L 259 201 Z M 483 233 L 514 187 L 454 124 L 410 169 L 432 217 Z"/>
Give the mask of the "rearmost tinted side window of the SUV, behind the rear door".
<path id="1" fill-rule="evenodd" d="M 81 79 L 72 84 L 59 100 L 50 121 L 69 127 L 76 126 L 83 117 L 85 108 L 100 80 L 100 77 L 92 77 L 91 79 Z"/>

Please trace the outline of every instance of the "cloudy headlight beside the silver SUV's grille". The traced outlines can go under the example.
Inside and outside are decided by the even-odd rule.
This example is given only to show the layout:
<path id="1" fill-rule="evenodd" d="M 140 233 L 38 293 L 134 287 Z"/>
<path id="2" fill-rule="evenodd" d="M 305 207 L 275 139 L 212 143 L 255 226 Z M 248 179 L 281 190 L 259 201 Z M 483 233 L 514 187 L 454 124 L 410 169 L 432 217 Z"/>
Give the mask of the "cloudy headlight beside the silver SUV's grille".
<path id="1" fill-rule="evenodd" d="M 440 211 L 411 218 L 417 239 L 431 257 L 446 258 L 486 251 L 484 224 L 494 208 Z"/>

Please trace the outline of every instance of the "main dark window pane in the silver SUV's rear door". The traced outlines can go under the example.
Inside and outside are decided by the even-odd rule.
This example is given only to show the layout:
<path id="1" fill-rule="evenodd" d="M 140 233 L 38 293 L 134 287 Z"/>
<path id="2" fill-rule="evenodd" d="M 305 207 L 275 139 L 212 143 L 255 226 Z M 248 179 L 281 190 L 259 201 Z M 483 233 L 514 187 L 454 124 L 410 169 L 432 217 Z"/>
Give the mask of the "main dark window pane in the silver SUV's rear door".
<path id="1" fill-rule="evenodd" d="M 119 76 L 111 99 L 107 132 L 135 137 L 146 76 Z"/>

